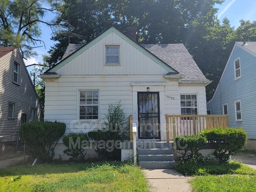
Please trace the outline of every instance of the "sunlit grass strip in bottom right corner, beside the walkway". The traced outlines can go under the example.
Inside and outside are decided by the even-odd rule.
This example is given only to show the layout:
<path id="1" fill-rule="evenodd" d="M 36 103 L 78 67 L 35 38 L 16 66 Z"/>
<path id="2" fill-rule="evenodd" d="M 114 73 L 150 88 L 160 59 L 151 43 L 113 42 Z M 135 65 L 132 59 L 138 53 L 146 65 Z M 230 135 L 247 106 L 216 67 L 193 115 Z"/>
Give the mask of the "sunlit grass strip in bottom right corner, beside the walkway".
<path id="1" fill-rule="evenodd" d="M 194 192 L 255 192 L 256 176 L 210 175 L 189 181 Z"/>

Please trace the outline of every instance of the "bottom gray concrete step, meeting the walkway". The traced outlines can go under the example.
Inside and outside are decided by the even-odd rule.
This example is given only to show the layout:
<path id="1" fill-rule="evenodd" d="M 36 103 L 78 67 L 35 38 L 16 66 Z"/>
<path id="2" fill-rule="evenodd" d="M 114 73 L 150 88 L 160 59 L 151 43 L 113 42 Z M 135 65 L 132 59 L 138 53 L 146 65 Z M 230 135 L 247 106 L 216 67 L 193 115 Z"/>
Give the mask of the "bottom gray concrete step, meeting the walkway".
<path id="1" fill-rule="evenodd" d="M 172 169 L 177 164 L 175 161 L 140 161 L 139 165 L 148 169 Z"/>

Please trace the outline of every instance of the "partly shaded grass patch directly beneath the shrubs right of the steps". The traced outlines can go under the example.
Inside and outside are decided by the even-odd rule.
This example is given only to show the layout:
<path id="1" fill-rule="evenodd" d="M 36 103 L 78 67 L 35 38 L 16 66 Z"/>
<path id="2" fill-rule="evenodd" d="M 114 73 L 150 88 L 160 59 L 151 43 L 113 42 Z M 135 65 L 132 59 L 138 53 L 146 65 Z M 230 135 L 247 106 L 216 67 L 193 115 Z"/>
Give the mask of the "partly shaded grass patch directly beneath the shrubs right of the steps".
<path id="1" fill-rule="evenodd" d="M 186 162 L 179 164 L 176 170 L 185 176 L 223 174 L 256 175 L 256 170 L 236 161 L 230 161 L 225 164 L 218 164 L 217 162 L 206 162 L 204 164 Z"/>

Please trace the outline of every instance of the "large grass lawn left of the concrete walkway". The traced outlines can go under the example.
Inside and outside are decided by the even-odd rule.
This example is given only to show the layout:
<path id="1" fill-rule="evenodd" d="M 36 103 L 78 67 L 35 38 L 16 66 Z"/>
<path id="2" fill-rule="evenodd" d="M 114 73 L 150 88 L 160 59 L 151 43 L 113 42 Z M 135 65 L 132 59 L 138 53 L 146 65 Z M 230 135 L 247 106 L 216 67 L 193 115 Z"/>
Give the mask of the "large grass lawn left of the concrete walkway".
<path id="1" fill-rule="evenodd" d="M 121 162 L 31 164 L 0 170 L 0 191 L 144 192 L 148 182 L 138 167 Z"/>

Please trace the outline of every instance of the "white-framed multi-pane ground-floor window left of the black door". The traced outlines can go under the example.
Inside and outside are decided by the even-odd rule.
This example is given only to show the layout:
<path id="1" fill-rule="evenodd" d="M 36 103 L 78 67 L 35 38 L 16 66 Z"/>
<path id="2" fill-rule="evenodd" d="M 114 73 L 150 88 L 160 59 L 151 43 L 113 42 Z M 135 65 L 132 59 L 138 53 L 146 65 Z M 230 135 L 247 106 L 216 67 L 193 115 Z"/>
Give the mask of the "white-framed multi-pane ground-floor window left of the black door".
<path id="1" fill-rule="evenodd" d="M 79 119 L 90 120 L 98 118 L 99 91 L 80 90 L 79 92 Z"/>

